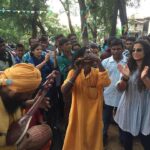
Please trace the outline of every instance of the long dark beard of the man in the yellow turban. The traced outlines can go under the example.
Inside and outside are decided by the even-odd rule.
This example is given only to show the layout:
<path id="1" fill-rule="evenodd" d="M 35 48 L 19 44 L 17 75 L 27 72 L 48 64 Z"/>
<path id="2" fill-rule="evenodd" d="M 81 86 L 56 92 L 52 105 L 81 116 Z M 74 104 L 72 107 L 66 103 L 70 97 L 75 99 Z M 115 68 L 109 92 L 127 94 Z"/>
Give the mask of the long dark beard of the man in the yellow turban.
<path id="1" fill-rule="evenodd" d="M 19 95 L 20 94 L 15 94 L 10 97 L 7 93 L 3 91 L 0 92 L 0 96 L 8 114 L 14 114 L 16 110 L 23 105 L 23 101 L 20 100 Z"/>

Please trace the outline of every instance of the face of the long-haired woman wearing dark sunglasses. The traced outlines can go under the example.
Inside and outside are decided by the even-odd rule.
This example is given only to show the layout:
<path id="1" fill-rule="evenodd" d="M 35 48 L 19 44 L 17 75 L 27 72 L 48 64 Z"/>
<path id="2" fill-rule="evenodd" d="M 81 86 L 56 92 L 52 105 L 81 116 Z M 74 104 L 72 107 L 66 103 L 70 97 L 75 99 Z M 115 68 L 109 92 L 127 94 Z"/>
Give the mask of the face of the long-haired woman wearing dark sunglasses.
<path id="1" fill-rule="evenodd" d="M 144 49 L 140 43 L 134 44 L 132 49 L 132 57 L 135 61 L 139 61 L 144 58 Z"/>

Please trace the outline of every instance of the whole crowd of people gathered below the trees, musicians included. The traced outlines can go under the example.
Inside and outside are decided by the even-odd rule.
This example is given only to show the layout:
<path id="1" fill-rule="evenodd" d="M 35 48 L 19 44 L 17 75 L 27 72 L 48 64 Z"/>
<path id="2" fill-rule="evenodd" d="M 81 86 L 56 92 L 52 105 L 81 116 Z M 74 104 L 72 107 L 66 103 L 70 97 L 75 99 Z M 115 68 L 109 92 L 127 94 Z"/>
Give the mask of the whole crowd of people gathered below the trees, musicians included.
<path id="1" fill-rule="evenodd" d="M 149 67 L 149 36 L 110 37 L 101 47 L 83 47 L 75 34 L 57 35 L 54 45 L 41 36 L 28 50 L 0 37 L 0 150 L 103 150 L 112 122 L 125 150 L 136 136 L 149 150 Z M 9 144 L 12 123 L 43 91 L 23 139 Z"/>

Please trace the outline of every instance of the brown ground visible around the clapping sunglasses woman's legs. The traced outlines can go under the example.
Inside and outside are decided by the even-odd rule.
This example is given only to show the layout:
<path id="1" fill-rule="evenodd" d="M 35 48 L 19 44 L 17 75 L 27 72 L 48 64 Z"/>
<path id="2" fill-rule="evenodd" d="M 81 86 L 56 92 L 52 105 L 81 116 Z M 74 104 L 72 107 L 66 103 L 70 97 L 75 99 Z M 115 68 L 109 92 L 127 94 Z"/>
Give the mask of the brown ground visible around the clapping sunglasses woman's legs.
<path id="1" fill-rule="evenodd" d="M 105 146 L 105 150 L 124 150 L 119 142 L 118 129 L 115 125 L 110 126 L 108 135 L 108 145 Z M 134 140 L 133 150 L 143 150 L 138 139 Z"/>

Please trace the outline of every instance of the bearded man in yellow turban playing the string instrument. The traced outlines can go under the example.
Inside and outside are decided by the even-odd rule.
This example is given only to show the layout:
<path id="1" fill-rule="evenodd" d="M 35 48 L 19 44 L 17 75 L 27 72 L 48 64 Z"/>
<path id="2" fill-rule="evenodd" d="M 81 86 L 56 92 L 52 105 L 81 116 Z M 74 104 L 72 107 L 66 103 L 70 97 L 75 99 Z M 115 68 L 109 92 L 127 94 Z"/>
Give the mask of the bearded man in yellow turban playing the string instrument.
<path id="1" fill-rule="evenodd" d="M 12 122 L 22 116 L 22 102 L 31 98 L 40 83 L 40 71 L 31 64 L 17 64 L 0 73 L 0 150 L 27 150 L 31 147 L 30 138 L 8 146 L 6 135 Z"/>

